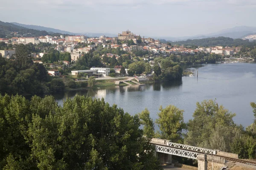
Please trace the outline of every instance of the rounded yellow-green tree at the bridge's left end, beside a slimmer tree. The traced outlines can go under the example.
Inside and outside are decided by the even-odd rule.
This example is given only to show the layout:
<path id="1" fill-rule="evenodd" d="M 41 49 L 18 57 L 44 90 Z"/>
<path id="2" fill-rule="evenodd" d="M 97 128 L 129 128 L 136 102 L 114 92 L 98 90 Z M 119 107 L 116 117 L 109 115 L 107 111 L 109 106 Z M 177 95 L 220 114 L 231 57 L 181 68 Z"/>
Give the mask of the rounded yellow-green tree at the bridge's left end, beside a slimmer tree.
<path id="1" fill-rule="evenodd" d="M 160 106 L 159 110 L 159 118 L 156 119 L 156 123 L 160 128 L 160 132 L 158 132 L 157 136 L 172 142 L 183 143 L 181 133 L 186 128 L 186 124 L 183 121 L 183 110 L 173 105 L 169 105 L 166 108 Z"/>

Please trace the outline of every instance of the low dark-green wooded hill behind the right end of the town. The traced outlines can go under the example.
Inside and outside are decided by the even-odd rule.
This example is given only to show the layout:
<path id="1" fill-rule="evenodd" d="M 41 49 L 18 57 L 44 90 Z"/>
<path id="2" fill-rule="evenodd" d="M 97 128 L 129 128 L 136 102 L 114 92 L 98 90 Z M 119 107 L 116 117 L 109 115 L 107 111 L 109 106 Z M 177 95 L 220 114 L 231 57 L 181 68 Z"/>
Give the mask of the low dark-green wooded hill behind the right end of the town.
<path id="1" fill-rule="evenodd" d="M 212 37 L 212 38 L 203 38 L 203 39 L 196 39 L 196 40 L 186 40 L 186 41 L 166 41 L 160 40 L 163 43 L 170 42 L 171 44 L 175 45 L 196 45 L 196 46 L 246 46 L 246 47 L 253 47 L 256 46 L 256 41 L 249 42 L 249 40 L 242 40 L 242 39 L 233 39 L 229 37 Z"/>

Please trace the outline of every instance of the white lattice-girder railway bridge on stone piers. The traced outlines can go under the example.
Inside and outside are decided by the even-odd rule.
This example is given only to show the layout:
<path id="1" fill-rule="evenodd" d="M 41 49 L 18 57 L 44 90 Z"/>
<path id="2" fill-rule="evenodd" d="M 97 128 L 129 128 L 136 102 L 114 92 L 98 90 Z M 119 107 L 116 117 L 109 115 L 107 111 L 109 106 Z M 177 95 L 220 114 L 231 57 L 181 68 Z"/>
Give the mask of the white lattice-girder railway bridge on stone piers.
<path id="1" fill-rule="evenodd" d="M 238 159 L 234 153 L 222 152 L 186 144 L 178 144 L 169 140 L 153 138 L 150 142 L 154 144 L 156 155 L 162 163 L 172 162 L 172 155 L 198 160 L 198 170 L 220 170 L 229 161 L 250 164 L 256 167 L 256 162 Z"/>

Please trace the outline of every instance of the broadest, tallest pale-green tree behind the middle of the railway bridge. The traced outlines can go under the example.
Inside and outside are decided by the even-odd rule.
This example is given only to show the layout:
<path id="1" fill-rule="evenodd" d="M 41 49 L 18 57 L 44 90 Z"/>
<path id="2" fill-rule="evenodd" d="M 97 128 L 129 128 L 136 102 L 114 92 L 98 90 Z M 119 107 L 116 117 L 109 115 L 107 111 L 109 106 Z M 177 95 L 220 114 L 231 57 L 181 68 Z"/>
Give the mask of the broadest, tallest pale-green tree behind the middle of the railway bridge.
<path id="1" fill-rule="evenodd" d="M 185 144 L 209 149 L 230 151 L 230 144 L 239 130 L 233 121 L 234 113 L 229 112 L 214 100 L 197 102 L 192 120 L 187 124 Z M 239 136 L 238 136 L 239 138 Z"/>

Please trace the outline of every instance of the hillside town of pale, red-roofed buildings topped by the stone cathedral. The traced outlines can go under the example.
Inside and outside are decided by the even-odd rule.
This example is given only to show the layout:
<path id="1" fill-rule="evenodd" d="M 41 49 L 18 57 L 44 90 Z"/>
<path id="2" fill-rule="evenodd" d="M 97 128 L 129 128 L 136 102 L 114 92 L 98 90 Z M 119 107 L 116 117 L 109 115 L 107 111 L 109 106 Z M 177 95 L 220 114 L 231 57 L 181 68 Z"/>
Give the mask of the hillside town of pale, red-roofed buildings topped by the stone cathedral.
<path id="1" fill-rule="evenodd" d="M 6 45 L 6 48 L 0 47 L 1 56 L 6 59 L 15 59 L 15 45 L 32 45 L 29 56 L 33 59 L 33 62 L 43 64 L 47 68 L 50 76 L 61 76 L 60 69 L 65 70 L 65 68 L 72 68 L 72 75 L 77 76 L 78 72 L 81 72 L 79 70 L 84 70 L 82 71 L 83 73 L 91 73 L 92 69 L 90 68 L 95 67 L 114 68 L 115 73 L 119 74 L 122 66 L 125 68 L 126 74 L 133 75 L 140 73 L 140 71 L 130 71 L 128 73 L 128 65 L 132 62 L 148 62 L 152 68 L 155 64 L 161 66 L 161 60 L 157 59 L 164 59 L 171 55 L 177 58 L 172 59 L 173 62 L 184 61 L 191 64 L 230 62 L 232 61 L 231 59 L 234 59 L 233 56 L 239 58 L 239 60 L 236 59 L 233 62 L 240 62 L 250 58 L 250 56 L 241 56 L 241 46 L 195 47 L 173 45 L 170 42 L 163 43 L 160 40 L 154 40 L 150 37 L 141 37 L 129 30 L 122 31 L 117 37 L 105 37 L 105 35 L 100 37 L 86 37 L 84 35 L 26 37 L 27 34 L 20 35 L 16 32 L 14 34 L 18 35 L 18 37 L 0 39 L 1 46 L 4 47 Z M 245 50 L 249 51 L 249 49 Z M 87 66 L 82 67 L 81 58 L 86 54 L 89 55 L 89 53 L 92 56 L 90 59 L 86 59 Z M 215 54 L 216 56 L 214 57 L 210 56 Z M 100 61 L 99 59 L 95 59 L 95 56 Z M 76 65 L 79 59 L 81 61 Z M 91 63 L 88 64 L 89 62 Z M 162 66 L 161 68 L 163 69 Z M 76 74 L 74 71 L 76 71 Z M 149 69 L 147 73 L 154 73 L 153 69 Z M 90 75 L 95 74 L 88 74 L 88 76 Z M 104 77 L 109 75 L 109 70 L 105 70 L 104 75 L 101 74 Z"/>

